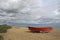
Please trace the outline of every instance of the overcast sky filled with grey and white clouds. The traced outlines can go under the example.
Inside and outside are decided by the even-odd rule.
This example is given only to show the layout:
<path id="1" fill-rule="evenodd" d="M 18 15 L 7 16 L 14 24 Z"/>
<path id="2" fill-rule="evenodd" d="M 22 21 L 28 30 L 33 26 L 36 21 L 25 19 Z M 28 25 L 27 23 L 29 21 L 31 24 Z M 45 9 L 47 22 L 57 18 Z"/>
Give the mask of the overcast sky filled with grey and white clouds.
<path id="1" fill-rule="evenodd" d="M 60 23 L 60 0 L 0 0 L 0 24 Z"/>

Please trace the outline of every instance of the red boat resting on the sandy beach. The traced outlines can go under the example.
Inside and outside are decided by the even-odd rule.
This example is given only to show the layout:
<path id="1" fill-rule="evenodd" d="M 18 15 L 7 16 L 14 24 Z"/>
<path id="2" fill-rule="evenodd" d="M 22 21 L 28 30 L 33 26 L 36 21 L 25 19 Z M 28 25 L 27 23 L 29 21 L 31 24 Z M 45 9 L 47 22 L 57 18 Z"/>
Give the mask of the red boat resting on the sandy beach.
<path id="1" fill-rule="evenodd" d="M 28 29 L 30 31 L 33 31 L 33 32 L 49 32 L 51 31 L 53 28 L 52 27 L 32 27 L 32 26 L 28 26 Z"/>

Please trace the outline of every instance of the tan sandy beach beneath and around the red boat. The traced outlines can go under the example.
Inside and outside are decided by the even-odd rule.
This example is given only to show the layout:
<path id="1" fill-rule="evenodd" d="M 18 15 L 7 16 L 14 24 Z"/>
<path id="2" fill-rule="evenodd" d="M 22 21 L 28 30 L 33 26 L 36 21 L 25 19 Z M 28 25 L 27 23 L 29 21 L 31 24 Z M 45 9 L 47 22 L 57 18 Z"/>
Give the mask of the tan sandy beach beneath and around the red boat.
<path id="1" fill-rule="evenodd" d="M 50 33 L 32 33 L 25 27 L 13 27 L 4 35 L 4 40 L 60 40 L 60 30 Z"/>

